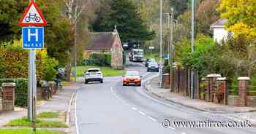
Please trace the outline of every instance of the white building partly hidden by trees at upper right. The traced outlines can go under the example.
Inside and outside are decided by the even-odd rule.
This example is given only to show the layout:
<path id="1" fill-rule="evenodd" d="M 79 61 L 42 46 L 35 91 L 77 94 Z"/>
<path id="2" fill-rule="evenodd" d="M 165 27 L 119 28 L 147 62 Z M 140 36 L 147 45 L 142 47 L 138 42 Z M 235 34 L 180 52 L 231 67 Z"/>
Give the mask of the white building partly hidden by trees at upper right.
<path id="1" fill-rule="evenodd" d="M 230 34 L 230 32 L 225 30 L 225 23 L 227 23 L 227 19 L 222 18 L 211 25 L 211 29 L 214 31 L 214 41 L 218 43 L 222 42 L 223 39 L 226 40 Z"/>

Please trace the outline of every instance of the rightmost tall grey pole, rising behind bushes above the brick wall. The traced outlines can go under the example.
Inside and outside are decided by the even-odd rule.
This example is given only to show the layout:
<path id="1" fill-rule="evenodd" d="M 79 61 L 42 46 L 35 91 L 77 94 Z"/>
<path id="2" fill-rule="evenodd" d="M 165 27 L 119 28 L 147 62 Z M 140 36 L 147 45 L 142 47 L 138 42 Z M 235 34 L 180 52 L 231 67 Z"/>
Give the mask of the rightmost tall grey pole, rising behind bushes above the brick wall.
<path id="1" fill-rule="evenodd" d="M 191 52 L 195 51 L 195 0 L 192 0 L 192 17 L 191 17 Z M 190 87 L 190 98 L 194 99 L 194 70 L 191 68 L 191 87 Z"/>

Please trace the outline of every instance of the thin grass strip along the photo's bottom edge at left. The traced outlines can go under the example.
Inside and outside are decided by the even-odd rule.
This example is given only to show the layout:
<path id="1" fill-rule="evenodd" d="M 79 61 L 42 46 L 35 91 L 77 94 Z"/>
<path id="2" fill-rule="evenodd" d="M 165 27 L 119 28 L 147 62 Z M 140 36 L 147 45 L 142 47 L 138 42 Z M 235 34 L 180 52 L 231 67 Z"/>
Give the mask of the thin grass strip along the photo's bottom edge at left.
<path id="1" fill-rule="evenodd" d="M 36 133 L 32 129 L 0 129 L 1 134 L 64 134 L 58 131 L 37 130 Z"/>

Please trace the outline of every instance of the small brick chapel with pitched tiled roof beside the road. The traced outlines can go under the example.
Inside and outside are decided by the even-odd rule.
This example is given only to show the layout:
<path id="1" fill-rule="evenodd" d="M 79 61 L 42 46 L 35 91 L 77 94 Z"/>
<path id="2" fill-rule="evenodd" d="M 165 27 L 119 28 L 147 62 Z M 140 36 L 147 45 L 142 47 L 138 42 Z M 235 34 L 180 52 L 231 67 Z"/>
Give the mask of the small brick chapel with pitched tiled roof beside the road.
<path id="1" fill-rule="evenodd" d="M 123 47 L 118 31 L 92 32 L 89 34 L 89 46 L 86 47 L 84 58 L 89 58 L 91 53 L 104 53 L 111 55 L 111 67 L 114 69 L 124 68 Z"/>

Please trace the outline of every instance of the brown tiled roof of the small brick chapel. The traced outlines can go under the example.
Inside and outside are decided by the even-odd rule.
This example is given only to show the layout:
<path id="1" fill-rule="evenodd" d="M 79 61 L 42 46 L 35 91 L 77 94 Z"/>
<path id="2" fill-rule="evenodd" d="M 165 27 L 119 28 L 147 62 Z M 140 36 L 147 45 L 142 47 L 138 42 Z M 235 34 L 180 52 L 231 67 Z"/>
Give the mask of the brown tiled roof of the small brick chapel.
<path id="1" fill-rule="evenodd" d="M 89 36 L 89 46 L 86 50 L 110 50 L 118 37 L 113 32 L 90 33 Z"/>

